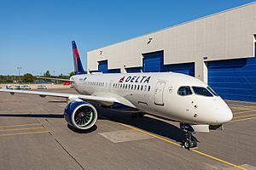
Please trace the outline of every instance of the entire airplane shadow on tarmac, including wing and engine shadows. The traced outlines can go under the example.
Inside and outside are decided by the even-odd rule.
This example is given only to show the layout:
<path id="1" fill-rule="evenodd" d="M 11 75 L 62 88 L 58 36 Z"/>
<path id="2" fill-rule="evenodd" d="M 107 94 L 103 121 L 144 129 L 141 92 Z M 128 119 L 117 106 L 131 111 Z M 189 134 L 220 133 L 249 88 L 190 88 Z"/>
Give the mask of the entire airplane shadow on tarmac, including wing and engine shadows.
<path id="1" fill-rule="evenodd" d="M 168 139 L 172 139 L 177 141 L 178 143 L 182 143 L 185 139 L 185 133 L 179 128 L 170 123 L 160 121 L 158 119 L 154 119 L 151 117 L 143 116 L 143 117 L 131 117 L 130 113 L 112 111 L 108 109 L 104 109 L 102 107 L 97 107 L 98 111 L 98 119 L 104 120 L 108 119 L 113 122 L 120 122 L 127 125 L 131 125 L 133 127 L 137 127 L 143 129 L 149 133 L 154 133 L 160 136 L 164 136 Z M 34 117 L 34 118 L 64 118 L 63 114 L 0 114 L 0 117 Z M 96 125 L 91 127 L 88 130 L 77 130 L 70 125 L 67 127 L 75 133 L 90 133 L 96 130 Z"/>

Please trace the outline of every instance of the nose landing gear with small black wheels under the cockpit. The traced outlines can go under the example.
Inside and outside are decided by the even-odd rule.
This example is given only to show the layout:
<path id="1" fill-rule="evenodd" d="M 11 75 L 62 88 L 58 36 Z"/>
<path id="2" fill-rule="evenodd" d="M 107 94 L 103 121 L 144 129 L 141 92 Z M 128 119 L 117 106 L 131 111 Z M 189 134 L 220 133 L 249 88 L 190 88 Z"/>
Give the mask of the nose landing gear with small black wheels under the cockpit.
<path id="1" fill-rule="evenodd" d="M 183 146 L 188 149 L 195 149 L 197 146 L 197 139 L 193 136 L 195 130 L 187 123 L 180 123 L 180 128 L 185 132 L 186 139 L 183 141 Z"/>

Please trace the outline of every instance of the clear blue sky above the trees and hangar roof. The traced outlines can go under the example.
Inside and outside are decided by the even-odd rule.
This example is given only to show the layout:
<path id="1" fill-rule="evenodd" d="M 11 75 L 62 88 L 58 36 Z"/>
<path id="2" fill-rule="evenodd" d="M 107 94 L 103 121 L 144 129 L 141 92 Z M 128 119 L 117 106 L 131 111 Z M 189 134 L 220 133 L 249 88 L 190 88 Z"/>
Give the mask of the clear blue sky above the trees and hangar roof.
<path id="1" fill-rule="evenodd" d="M 67 75 L 87 52 L 250 0 L 0 0 L 0 75 Z"/>

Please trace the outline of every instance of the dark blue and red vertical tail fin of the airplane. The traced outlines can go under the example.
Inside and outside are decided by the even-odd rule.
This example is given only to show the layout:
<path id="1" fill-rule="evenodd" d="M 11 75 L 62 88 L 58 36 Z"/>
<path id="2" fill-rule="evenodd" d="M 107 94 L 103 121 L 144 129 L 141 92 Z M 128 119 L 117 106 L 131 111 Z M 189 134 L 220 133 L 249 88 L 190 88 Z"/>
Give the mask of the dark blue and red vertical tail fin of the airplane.
<path id="1" fill-rule="evenodd" d="M 73 48 L 73 64 L 74 64 L 74 71 L 77 75 L 79 74 L 85 74 L 80 56 L 79 56 L 79 50 L 77 48 L 76 42 L 72 42 L 72 48 Z"/>

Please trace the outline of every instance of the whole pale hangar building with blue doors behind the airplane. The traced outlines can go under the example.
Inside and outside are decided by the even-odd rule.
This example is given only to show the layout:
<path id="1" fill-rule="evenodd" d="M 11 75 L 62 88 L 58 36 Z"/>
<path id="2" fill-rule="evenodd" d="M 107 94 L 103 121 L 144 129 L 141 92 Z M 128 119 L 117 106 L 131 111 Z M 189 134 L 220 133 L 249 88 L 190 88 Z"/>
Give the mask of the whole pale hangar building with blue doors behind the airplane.
<path id="1" fill-rule="evenodd" d="M 87 71 L 180 72 L 224 99 L 256 102 L 256 3 L 98 48 Z"/>

